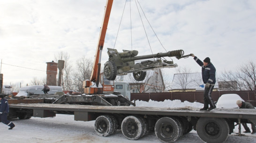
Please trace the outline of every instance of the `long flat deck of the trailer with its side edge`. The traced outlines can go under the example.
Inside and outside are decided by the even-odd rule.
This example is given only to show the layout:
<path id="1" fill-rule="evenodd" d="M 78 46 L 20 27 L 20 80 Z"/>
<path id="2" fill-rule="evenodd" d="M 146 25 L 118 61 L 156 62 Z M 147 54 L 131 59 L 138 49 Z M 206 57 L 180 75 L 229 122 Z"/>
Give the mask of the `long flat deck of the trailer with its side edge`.
<path id="1" fill-rule="evenodd" d="M 125 113 L 142 115 L 167 115 L 167 116 L 196 116 L 215 118 L 240 118 L 256 119 L 255 109 L 227 109 L 216 108 L 211 111 L 199 111 L 194 107 L 136 107 L 136 106 L 95 106 L 95 105 L 63 105 L 63 104 L 10 104 L 10 108 L 48 110 L 48 111 L 69 111 L 79 113 Z"/>

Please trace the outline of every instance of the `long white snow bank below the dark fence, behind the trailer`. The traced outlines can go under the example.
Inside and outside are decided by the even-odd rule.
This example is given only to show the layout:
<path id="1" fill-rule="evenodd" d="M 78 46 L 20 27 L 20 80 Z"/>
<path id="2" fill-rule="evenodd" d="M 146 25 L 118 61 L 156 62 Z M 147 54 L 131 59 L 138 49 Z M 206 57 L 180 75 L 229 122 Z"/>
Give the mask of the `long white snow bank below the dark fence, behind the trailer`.
<path id="1" fill-rule="evenodd" d="M 134 101 L 133 101 L 134 102 Z M 202 108 L 203 104 L 199 103 L 199 102 L 188 102 L 188 101 L 184 101 L 181 102 L 181 100 L 164 100 L 164 101 L 153 101 L 153 100 L 149 100 L 149 102 L 146 101 L 140 101 L 140 100 L 136 100 L 135 101 L 136 106 L 141 106 L 141 107 L 186 107 L 186 106 L 191 106 L 191 107 L 196 107 L 196 108 Z"/>

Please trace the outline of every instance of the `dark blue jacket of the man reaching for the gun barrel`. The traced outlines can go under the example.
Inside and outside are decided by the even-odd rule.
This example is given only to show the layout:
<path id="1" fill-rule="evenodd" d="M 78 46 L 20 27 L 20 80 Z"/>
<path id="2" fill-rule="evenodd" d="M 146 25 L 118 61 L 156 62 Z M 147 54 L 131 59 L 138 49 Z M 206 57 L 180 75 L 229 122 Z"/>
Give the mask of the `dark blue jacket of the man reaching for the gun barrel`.
<path id="1" fill-rule="evenodd" d="M 203 62 L 201 60 L 199 60 L 196 56 L 194 57 L 194 60 L 196 60 L 198 65 L 202 67 L 203 83 L 215 84 L 216 83 L 216 78 L 215 78 L 216 69 L 213 66 L 213 64 L 209 63 L 207 66 L 204 67 Z"/>

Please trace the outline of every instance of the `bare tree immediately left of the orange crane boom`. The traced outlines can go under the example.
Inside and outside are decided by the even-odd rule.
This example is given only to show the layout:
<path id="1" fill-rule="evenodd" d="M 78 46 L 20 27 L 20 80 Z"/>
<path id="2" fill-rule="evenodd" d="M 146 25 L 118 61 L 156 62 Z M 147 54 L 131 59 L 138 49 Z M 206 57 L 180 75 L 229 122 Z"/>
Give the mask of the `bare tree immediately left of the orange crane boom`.
<path id="1" fill-rule="evenodd" d="M 83 81 L 90 79 L 90 74 L 92 70 L 92 60 L 85 58 L 83 56 L 76 61 L 76 69 L 74 72 L 74 86 L 75 89 L 83 92 Z"/>

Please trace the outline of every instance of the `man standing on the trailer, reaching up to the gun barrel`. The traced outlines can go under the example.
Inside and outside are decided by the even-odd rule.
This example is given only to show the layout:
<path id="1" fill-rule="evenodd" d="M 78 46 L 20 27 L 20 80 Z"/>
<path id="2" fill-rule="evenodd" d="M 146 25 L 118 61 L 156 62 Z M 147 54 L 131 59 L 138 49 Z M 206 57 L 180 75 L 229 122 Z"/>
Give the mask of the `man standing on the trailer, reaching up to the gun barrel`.
<path id="1" fill-rule="evenodd" d="M 203 108 L 200 110 L 210 111 L 216 108 L 211 98 L 211 92 L 216 83 L 216 78 L 215 78 L 216 69 L 211 63 L 211 60 L 209 57 L 205 58 L 202 62 L 194 54 L 191 54 L 191 56 L 194 57 L 194 60 L 197 62 L 197 64 L 200 67 L 202 67 L 202 78 L 203 78 L 203 83 L 205 83 L 204 94 L 203 94 L 204 105 L 203 105 Z M 209 105 L 210 105 L 210 108 L 209 108 Z"/>

